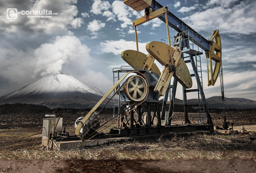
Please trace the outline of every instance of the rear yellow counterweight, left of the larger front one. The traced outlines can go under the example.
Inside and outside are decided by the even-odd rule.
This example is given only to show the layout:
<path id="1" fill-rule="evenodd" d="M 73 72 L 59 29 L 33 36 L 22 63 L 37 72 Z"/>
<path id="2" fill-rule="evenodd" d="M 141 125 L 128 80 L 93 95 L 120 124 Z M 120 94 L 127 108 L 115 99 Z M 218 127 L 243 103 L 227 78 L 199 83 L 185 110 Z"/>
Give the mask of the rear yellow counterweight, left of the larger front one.
<path id="1" fill-rule="evenodd" d="M 143 54 L 142 52 L 135 51 L 135 50 L 122 51 L 121 57 L 124 61 L 126 61 L 126 63 L 134 67 L 135 70 L 144 70 L 145 68 L 143 67 L 147 65 L 150 66 L 152 61 L 154 62 L 153 59 L 147 60 L 148 58 L 153 58 L 153 57 L 147 57 L 146 54 Z M 148 61 L 148 63 L 146 63 L 146 61 Z M 158 74 L 159 76 L 161 75 L 161 72 L 155 63 L 152 64 L 151 68 L 147 68 L 147 70 L 156 72 L 156 74 Z"/>

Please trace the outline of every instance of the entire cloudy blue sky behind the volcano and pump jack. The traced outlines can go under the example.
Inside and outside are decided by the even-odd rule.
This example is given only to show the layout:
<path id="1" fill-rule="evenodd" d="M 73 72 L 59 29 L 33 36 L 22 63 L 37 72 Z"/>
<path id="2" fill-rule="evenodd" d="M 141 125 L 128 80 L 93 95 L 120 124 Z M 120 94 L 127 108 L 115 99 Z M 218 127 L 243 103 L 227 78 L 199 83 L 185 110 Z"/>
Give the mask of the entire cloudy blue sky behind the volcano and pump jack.
<path id="1" fill-rule="evenodd" d="M 220 31 L 225 96 L 256 101 L 256 2 L 254 0 L 158 0 L 169 11 L 209 39 Z M 51 10 L 51 18 L 18 14 Z M 64 72 L 90 87 L 107 92 L 112 68 L 127 65 L 121 52 L 136 49 L 132 21 L 144 15 L 119 0 L 3 0 L 0 2 L 0 96 L 47 74 Z M 166 24 L 154 19 L 138 28 L 139 50 L 167 37 Z M 173 37 L 176 31 L 170 28 Z M 220 81 L 207 86 L 206 57 L 202 70 L 206 98 L 220 96 Z M 159 69 L 163 67 L 157 63 Z M 177 90 L 182 98 L 181 86 Z M 193 96 L 191 96 L 192 98 Z M 190 97 L 188 97 L 190 98 Z"/>

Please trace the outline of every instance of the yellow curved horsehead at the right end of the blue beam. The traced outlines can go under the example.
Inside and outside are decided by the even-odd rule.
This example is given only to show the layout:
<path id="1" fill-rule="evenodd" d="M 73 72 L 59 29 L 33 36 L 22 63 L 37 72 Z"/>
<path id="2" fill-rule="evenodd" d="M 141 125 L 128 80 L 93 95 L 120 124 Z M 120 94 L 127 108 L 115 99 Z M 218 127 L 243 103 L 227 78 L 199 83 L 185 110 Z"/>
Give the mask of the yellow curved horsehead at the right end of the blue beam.
<path id="1" fill-rule="evenodd" d="M 205 52 L 205 55 L 207 58 L 208 86 L 213 86 L 218 78 L 221 65 L 221 40 L 219 30 L 213 31 L 209 41 L 212 43 L 211 50 Z M 212 60 L 215 61 L 214 70 L 212 67 Z"/>

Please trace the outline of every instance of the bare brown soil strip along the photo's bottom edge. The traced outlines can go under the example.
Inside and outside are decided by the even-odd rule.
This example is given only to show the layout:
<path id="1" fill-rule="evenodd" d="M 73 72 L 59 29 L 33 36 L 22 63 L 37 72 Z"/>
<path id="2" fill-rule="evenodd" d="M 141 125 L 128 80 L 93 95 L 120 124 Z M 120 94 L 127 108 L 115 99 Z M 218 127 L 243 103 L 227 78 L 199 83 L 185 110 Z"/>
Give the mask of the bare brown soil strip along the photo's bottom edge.
<path id="1" fill-rule="evenodd" d="M 256 159 L 173 160 L 6 160 L 0 173 L 194 173 L 256 172 Z"/>

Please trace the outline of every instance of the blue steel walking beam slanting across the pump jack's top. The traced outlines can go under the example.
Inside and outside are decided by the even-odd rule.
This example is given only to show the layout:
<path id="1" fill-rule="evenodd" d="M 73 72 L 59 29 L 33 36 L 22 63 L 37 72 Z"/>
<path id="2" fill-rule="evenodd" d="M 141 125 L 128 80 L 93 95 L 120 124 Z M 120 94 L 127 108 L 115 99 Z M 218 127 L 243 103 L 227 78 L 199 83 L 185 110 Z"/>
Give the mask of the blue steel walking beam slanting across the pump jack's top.
<path id="1" fill-rule="evenodd" d="M 156 2 L 156 0 L 152 0 L 151 4 L 152 9 L 155 11 L 157 9 L 160 9 L 164 7 L 163 5 Z M 193 41 L 197 45 L 201 45 L 202 49 L 204 51 L 210 51 L 211 49 L 211 42 L 209 40 L 205 39 L 203 36 L 201 36 L 197 31 L 193 30 L 188 26 L 185 22 L 180 20 L 177 16 L 172 14 L 170 11 L 167 13 L 168 16 L 168 25 L 171 26 L 173 29 L 175 29 L 177 32 L 183 32 L 188 31 L 188 35 L 190 36 L 190 40 Z M 165 15 L 158 17 L 161 21 L 164 21 L 165 23 Z"/>

